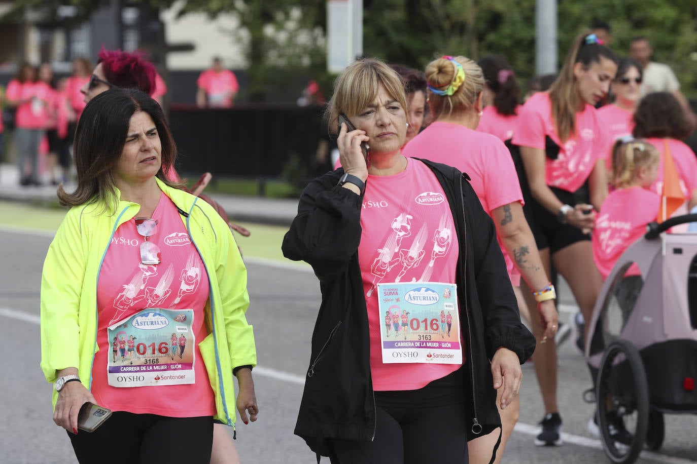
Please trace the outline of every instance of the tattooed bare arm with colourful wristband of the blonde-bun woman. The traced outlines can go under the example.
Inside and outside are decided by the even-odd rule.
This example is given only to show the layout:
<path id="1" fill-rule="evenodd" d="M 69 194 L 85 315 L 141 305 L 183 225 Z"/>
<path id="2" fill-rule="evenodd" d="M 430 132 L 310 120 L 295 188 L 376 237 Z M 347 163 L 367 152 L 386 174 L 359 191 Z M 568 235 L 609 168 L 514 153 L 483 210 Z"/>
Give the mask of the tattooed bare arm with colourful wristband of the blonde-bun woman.
<path id="1" fill-rule="evenodd" d="M 528 287 L 539 291 L 549 285 L 549 276 L 542 266 L 533 232 L 526 221 L 521 204 L 513 202 L 493 209 L 491 218 L 496 225 L 496 234 L 513 258 L 514 266 L 521 273 Z M 556 332 L 558 315 L 553 300 L 537 303 L 537 310 L 540 323 L 545 330 L 544 341 L 547 337 L 553 337 Z"/>

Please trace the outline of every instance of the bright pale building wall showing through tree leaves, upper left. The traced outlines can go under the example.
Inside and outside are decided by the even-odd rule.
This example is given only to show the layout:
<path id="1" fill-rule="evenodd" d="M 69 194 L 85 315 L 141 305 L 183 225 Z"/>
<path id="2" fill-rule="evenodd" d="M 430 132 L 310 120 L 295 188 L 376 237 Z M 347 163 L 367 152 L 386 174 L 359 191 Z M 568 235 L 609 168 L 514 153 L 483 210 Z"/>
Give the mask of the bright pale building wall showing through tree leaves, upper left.
<path id="1" fill-rule="evenodd" d="M 183 2 L 175 3 L 160 14 L 164 22 L 165 38 L 169 44 L 191 42 L 193 51 L 178 51 L 167 54 L 167 68 L 178 70 L 203 70 L 210 67 L 213 56 L 220 56 L 224 67 L 240 69 L 247 67 L 243 56 L 245 34 L 238 30 L 236 16 L 225 14 L 209 19 L 202 13 L 189 13 L 181 18 L 176 14 Z"/>

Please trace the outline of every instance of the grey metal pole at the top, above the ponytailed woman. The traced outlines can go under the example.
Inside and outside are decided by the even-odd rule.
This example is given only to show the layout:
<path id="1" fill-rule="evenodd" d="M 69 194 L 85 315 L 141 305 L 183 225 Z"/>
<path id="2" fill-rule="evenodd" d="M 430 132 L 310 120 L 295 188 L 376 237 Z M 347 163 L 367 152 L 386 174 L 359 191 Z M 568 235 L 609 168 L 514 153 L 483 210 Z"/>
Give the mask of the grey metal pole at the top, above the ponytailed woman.
<path id="1" fill-rule="evenodd" d="M 535 2 L 535 72 L 557 72 L 557 0 Z"/>

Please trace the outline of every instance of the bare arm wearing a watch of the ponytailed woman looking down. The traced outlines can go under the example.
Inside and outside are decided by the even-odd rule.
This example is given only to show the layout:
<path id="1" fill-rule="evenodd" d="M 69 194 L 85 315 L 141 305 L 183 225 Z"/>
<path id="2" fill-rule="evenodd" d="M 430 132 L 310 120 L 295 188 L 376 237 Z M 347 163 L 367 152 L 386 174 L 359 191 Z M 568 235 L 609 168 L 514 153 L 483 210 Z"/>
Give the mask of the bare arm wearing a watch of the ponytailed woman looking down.
<path id="1" fill-rule="evenodd" d="M 533 198 L 539 202 L 547 211 L 556 216 L 559 209 L 564 205 L 557 198 L 557 195 L 546 184 L 545 179 L 545 154 L 544 150 L 532 147 L 520 147 L 521 158 L 525 166 L 528 184 L 530 185 L 530 193 Z M 603 170 L 604 173 L 604 170 Z M 606 182 L 606 179 L 603 179 Z M 603 198 L 604 199 L 604 198 Z M 592 229 L 595 224 L 595 211 L 590 214 L 585 214 L 584 211 L 589 209 L 590 205 L 579 204 L 569 211 L 566 216 L 567 223 L 579 227 L 580 229 Z"/>

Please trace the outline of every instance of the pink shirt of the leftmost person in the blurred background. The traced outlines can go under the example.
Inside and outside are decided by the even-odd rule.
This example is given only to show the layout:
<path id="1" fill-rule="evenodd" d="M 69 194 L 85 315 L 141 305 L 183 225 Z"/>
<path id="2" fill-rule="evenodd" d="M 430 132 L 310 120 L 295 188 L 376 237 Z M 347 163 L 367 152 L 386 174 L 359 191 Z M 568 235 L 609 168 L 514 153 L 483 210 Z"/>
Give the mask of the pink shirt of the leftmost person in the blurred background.
<path id="1" fill-rule="evenodd" d="M 52 91 L 45 82 L 10 81 L 6 91 L 8 99 L 31 99 L 17 107 L 15 125 L 22 129 L 45 129 L 48 122 L 47 107 L 52 101 Z"/>

